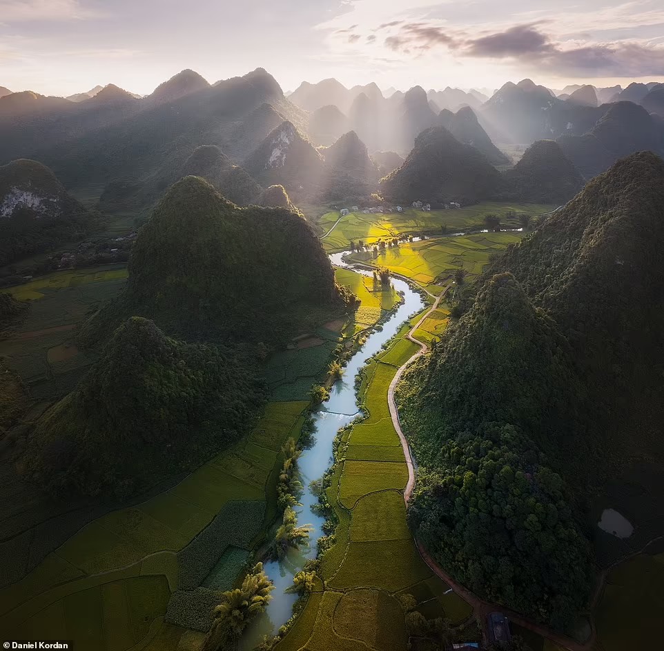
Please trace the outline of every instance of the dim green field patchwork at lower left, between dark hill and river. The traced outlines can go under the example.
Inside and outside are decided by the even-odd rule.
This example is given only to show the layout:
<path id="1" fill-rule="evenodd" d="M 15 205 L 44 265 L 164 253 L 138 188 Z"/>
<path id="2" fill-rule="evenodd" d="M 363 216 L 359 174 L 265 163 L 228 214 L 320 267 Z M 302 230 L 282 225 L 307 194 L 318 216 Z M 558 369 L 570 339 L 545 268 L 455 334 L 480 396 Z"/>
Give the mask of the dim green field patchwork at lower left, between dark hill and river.
<path id="1" fill-rule="evenodd" d="M 268 403 L 246 441 L 172 489 L 88 523 L 24 579 L 0 590 L 0 630 L 28 639 L 28 630 L 61 620 L 63 639 L 125 651 L 155 637 L 179 585 L 233 583 L 274 517 L 278 450 L 297 437 L 308 407 L 309 401 Z M 111 581 L 117 586 L 106 588 Z M 120 629 L 104 633 L 104 646 L 99 636 L 113 622 Z"/>

